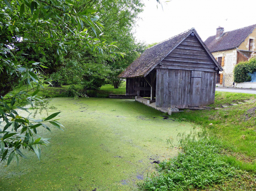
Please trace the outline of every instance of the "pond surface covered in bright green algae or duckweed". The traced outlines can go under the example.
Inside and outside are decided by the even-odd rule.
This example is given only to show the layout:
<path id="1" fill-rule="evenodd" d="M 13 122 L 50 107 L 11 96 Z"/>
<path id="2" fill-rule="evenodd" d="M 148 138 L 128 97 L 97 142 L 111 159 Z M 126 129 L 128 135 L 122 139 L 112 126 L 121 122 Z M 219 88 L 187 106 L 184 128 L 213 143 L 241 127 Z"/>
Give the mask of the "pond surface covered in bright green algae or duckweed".
<path id="1" fill-rule="evenodd" d="M 28 159 L 20 159 L 19 167 L 1 162 L 0 190 L 138 190 L 155 162 L 179 152 L 178 133 L 194 127 L 134 100 L 53 98 L 51 104 L 62 111 L 64 132 L 39 129 L 42 137 L 52 138 L 41 161 L 24 151 Z"/>

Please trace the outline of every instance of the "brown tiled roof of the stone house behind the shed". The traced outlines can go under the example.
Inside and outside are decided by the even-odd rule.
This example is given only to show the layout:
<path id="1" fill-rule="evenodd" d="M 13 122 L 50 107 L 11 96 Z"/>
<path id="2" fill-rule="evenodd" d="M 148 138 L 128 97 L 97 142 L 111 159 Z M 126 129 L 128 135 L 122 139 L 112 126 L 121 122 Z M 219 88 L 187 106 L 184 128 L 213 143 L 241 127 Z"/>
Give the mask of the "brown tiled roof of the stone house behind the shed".
<path id="1" fill-rule="evenodd" d="M 224 32 L 223 35 L 216 39 L 216 35 L 210 36 L 204 41 L 211 52 L 235 49 L 245 40 L 246 37 L 254 30 L 256 24 Z"/>

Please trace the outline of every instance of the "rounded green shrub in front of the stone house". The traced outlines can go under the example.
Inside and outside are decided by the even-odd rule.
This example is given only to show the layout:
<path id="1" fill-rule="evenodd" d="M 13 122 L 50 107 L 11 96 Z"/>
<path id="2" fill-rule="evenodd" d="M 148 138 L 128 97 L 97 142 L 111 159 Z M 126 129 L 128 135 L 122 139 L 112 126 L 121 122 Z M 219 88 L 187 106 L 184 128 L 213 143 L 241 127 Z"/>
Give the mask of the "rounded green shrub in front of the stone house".
<path id="1" fill-rule="evenodd" d="M 252 57 L 248 61 L 240 62 L 235 66 L 234 69 L 234 81 L 248 82 L 251 81 L 251 76 L 249 73 L 256 71 L 256 58 Z"/>

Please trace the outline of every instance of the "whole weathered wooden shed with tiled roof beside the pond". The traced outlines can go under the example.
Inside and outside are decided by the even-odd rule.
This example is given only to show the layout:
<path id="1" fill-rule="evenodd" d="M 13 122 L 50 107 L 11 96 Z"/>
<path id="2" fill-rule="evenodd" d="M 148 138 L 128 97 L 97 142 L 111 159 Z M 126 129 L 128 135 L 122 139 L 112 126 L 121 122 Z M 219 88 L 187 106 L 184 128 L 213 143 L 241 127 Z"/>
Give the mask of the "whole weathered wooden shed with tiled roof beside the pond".
<path id="1" fill-rule="evenodd" d="M 222 67 L 194 28 L 145 50 L 119 77 L 126 95 L 149 97 L 157 108 L 206 106 L 214 102 Z"/>

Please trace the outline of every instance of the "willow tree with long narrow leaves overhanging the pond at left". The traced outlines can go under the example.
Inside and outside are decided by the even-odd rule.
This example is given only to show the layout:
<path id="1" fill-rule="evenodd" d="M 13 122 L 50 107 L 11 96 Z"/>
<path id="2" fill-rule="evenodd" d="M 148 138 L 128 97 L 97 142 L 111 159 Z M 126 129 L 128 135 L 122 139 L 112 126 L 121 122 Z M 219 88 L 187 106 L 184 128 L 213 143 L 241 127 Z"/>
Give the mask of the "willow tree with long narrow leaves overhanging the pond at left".
<path id="1" fill-rule="evenodd" d="M 75 0 L 0 0 L 0 148 L 1 160 L 8 157 L 7 165 L 28 149 L 40 160 L 40 145 L 49 144 L 48 139 L 37 134 L 40 126 L 50 131 L 50 123 L 56 128 L 62 124 L 53 118 L 21 117 L 16 108 L 28 111 L 24 105 L 33 101 L 42 102 L 36 96 L 42 83 L 49 81 L 39 56 L 54 57 L 53 63 L 68 55 L 68 50 L 85 52 L 107 52 L 113 57 L 114 43 L 107 41 L 101 32 L 104 29 L 97 10 L 92 9 L 93 1 Z M 121 54 L 122 55 L 122 54 Z M 14 87 L 27 85 L 27 91 L 8 94 Z M 31 91 L 28 91 L 31 90 Z M 33 93 L 30 93 L 33 92 Z"/>

